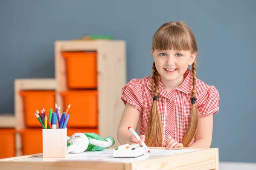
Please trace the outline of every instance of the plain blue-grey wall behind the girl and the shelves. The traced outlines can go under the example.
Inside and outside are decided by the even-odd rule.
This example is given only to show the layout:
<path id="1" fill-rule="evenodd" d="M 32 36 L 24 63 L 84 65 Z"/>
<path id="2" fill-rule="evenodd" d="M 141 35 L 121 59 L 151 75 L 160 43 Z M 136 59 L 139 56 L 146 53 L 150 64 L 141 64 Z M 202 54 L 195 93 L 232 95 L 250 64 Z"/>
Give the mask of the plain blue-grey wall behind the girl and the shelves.
<path id="1" fill-rule="evenodd" d="M 129 81 L 151 74 L 154 31 L 183 20 L 198 42 L 198 78 L 221 97 L 211 147 L 220 161 L 256 162 L 255 8 L 255 0 L 1 0 L 0 113 L 14 113 L 14 79 L 54 78 L 55 40 L 125 40 Z"/>

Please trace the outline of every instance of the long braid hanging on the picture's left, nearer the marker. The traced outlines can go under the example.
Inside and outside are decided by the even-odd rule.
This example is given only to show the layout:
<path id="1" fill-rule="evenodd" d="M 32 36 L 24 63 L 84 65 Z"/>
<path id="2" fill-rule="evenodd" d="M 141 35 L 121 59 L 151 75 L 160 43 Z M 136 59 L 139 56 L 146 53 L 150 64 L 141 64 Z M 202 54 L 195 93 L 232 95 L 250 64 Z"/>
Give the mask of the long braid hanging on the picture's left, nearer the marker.
<path id="1" fill-rule="evenodd" d="M 153 105 L 148 121 L 148 128 L 145 135 L 145 143 L 148 146 L 163 146 L 163 129 L 157 106 L 158 95 L 158 72 L 153 62 L 152 66 L 152 90 L 153 90 Z"/>

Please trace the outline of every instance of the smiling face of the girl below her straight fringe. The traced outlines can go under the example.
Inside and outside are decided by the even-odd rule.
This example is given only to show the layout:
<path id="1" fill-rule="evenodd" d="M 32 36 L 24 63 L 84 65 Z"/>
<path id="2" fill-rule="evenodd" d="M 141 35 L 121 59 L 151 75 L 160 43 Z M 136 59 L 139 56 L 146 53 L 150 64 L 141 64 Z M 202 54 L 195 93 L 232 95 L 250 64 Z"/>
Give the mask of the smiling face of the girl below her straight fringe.
<path id="1" fill-rule="evenodd" d="M 161 81 L 181 84 L 183 74 L 195 60 L 196 53 L 190 51 L 152 50 L 156 69 L 161 76 Z"/>

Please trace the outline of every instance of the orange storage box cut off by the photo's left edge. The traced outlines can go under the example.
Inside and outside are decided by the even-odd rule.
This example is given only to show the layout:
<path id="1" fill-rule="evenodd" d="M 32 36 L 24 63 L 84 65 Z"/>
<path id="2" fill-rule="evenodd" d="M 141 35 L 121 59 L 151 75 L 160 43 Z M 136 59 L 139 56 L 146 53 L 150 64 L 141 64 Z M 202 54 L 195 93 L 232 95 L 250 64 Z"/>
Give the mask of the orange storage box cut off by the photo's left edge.
<path id="1" fill-rule="evenodd" d="M 16 155 L 15 133 L 15 129 L 0 129 L 0 159 L 14 157 Z"/>

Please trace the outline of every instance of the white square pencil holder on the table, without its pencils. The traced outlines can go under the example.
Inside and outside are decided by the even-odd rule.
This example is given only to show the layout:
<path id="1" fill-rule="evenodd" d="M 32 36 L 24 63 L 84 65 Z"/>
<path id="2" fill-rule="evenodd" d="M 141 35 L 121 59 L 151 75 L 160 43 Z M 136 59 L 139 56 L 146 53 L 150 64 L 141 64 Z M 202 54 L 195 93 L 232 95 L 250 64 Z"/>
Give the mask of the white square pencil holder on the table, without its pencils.
<path id="1" fill-rule="evenodd" d="M 43 158 L 67 156 L 67 128 L 43 129 Z"/>

